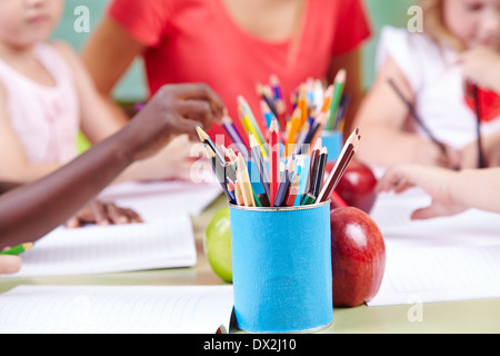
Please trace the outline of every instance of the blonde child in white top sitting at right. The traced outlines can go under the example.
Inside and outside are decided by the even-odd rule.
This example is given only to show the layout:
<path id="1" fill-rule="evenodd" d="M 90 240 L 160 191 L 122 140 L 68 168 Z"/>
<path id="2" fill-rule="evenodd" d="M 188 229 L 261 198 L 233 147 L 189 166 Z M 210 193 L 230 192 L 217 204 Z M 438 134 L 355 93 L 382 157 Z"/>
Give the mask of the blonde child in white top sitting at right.
<path id="1" fill-rule="evenodd" d="M 366 132 L 358 157 L 382 167 L 477 168 L 482 151 L 486 166 L 499 166 L 500 97 L 489 90 L 500 80 L 500 0 L 419 4 L 423 33 L 382 31 L 378 77 L 357 117 Z M 477 91 L 479 136 L 477 107 L 464 88 L 480 77 L 487 81 Z M 409 105 L 422 123 L 409 116 Z"/>

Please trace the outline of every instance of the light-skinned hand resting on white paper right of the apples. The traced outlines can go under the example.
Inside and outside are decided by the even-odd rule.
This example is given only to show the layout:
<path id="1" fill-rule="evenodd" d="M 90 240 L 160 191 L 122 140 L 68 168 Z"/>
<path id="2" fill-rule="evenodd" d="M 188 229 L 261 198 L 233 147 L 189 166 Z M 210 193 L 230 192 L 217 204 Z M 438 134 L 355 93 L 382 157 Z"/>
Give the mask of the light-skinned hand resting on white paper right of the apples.
<path id="1" fill-rule="evenodd" d="M 450 181 L 456 174 L 456 171 L 437 167 L 398 166 L 386 172 L 379 180 L 376 191 L 393 190 L 399 194 L 411 187 L 420 187 L 432 197 L 432 204 L 413 211 L 412 219 L 456 215 L 467 209 L 457 204 L 450 194 Z"/>

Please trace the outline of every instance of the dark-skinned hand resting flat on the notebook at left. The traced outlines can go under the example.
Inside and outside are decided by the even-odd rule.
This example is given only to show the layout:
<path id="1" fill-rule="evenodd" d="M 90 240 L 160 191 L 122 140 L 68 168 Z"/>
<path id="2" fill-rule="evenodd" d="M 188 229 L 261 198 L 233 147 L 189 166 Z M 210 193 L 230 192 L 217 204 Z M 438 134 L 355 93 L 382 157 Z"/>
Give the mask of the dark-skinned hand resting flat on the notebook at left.
<path id="1" fill-rule="evenodd" d="M 120 208 L 113 202 L 101 202 L 93 200 L 83 207 L 80 211 L 71 217 L 66 226 L 69 228 L 77 228 L 83 224 L 97 224 L 97 225 L 121 225 L 142 222 L 141 217 L 128 208 Z"/>

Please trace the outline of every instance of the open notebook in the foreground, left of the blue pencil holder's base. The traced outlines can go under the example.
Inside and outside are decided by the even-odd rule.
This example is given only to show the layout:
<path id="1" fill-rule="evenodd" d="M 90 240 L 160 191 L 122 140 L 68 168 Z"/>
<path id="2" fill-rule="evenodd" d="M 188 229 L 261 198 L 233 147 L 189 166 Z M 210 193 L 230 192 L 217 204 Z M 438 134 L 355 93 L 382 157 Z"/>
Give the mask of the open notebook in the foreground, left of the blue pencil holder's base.
<path id="1" fill-rule="evenodd" d="M 0 333 L 216 334 L 232 286 L 20 286 L 0 295 Z"/>

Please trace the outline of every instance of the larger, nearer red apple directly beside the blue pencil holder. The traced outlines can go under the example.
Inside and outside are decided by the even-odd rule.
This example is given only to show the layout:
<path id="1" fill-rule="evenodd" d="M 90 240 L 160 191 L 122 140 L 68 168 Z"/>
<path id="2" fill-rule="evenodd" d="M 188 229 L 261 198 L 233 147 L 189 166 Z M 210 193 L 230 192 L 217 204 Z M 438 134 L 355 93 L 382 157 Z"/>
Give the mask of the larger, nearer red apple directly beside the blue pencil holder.
<path id="1" fill-rule="evenodd" d="M 364 211 L 330 212 L 333 306 L 354 307 L 373 298 L 386 270 L 386 245 L 377 224 Z"/>

